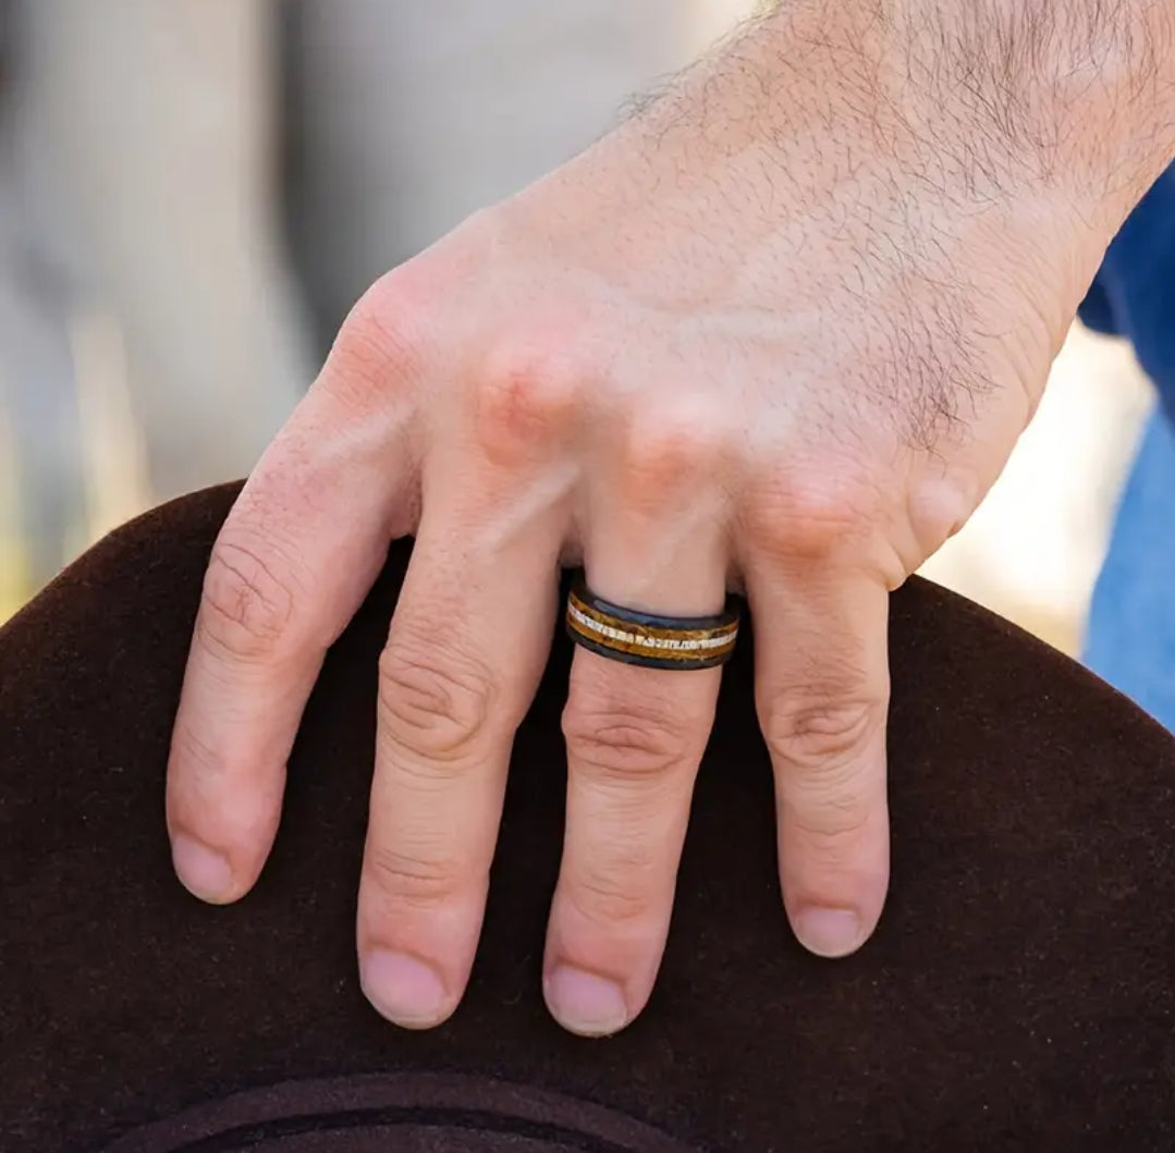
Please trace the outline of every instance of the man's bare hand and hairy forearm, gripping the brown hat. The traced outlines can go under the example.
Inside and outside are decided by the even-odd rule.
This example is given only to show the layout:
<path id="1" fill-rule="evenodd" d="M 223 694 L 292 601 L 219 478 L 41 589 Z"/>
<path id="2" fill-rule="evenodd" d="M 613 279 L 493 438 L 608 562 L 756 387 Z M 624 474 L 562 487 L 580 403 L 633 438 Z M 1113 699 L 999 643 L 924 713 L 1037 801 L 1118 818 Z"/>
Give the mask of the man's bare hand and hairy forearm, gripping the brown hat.
<path id="1" fill-rule="evenodd" d="M 462 997 L 568 564 L 654 612 L 746 595 L 787 916 L 857 950 L 888 881 L 888 594 L 998 476 L 1175 152 L 1163 9 L 793 0 L 376 283 L 209 564 L 184 884 L 256 880 L 323 655 L 411 534 L 357 917 L 380 1012 Z M 570 1030 L 649 998 L 719 681 L 577 651 L 544 970 Z"/>

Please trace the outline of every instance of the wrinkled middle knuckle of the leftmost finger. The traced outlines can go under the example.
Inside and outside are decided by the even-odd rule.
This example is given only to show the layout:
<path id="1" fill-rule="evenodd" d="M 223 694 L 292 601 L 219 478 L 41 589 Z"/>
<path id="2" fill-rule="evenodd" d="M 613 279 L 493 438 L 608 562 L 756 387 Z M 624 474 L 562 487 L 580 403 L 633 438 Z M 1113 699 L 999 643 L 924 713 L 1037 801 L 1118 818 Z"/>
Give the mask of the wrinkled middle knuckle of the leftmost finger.
<path id="1" fill-rule="evenodd" d="M 274 561 L 253 545 L 221 539 L 204 574 L 199 630 L 235 656 L 267 656 L 286 636 L 295 599 Z"/>

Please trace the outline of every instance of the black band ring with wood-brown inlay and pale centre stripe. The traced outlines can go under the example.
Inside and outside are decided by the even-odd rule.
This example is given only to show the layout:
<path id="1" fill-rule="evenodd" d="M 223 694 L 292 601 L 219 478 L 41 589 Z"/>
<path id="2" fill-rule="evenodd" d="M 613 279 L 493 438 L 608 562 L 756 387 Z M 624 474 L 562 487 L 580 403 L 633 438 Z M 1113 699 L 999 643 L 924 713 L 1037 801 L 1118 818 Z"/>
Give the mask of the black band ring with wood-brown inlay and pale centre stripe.
<path id="1" fill-rule="evenodd" d="M 568 635 L 611 661 L 645 669 L 713 669 L 725 664 L 738 639 L 733 598 L 717 616 L 663 617 L 596 596 L 580 577 L 568 597 Z"/>

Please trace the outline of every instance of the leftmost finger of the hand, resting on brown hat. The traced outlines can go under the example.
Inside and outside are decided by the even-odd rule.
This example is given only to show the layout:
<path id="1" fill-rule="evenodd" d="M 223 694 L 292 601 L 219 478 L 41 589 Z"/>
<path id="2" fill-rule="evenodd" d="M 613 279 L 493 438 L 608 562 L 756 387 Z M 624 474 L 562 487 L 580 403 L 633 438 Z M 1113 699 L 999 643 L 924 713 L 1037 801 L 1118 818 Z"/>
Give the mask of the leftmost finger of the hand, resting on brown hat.
<path id="1" fill-rule="evenodd" d="M 167 778 L 175 870 L 208 901 L 236 900 L 256 881 L 327 649 L 389 542 L 411 528 L 408 400 L 374 387 L 380 376 L 391 384 L 392 369 L 348 324 L 208 563 Z"/>

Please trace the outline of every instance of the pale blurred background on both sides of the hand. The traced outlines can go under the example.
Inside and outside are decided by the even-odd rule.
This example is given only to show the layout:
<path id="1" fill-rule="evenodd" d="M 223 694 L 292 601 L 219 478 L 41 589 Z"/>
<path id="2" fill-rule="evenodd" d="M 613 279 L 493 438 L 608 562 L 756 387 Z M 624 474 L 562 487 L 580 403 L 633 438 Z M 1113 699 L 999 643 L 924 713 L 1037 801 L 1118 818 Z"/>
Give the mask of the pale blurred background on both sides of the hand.
<path id="1" fill-rule="evenodd" d="M 0 621 L 246 474 L 382 272 L 754 0 L 0 0 Z M 1076 652 L 1149 387 L 1075 330 L 926 574 Z"/>

